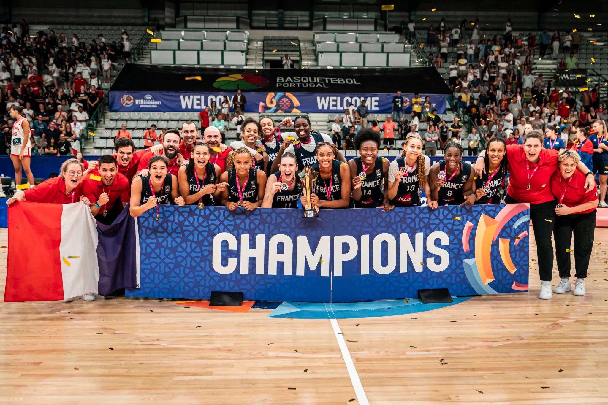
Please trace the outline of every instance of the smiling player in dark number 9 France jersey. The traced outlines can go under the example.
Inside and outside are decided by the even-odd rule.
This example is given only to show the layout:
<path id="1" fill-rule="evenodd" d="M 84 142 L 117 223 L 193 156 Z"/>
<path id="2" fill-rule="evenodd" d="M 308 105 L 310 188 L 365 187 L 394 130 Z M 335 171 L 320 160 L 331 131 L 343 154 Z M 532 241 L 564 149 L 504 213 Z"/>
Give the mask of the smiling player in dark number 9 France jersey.
<path id="1" fill-rule="evenodd" d="M 462 161 L 462 146 L 448 142 L 443 149 L 443 160 L 430 168 L 430 183 L 433 185 L 433 200 L 438 205 L 473 205 L 474 179 L 471 165 Z"/>

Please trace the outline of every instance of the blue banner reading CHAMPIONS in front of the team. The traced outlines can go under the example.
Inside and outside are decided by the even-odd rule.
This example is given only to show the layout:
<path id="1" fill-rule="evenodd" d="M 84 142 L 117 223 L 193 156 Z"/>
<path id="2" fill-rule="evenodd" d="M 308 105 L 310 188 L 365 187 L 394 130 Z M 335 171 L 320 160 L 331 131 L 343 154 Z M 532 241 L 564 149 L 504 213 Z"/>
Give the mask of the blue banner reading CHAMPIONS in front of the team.
<path id="1" fill-rule="evenodd" d="M 138 219 L 139 288 L 128 296 L 347 302 L 528 290 L 529 206 L 229 211 L 162 206 Z M 349 224 L 345 229 L 344 224 Z"/>

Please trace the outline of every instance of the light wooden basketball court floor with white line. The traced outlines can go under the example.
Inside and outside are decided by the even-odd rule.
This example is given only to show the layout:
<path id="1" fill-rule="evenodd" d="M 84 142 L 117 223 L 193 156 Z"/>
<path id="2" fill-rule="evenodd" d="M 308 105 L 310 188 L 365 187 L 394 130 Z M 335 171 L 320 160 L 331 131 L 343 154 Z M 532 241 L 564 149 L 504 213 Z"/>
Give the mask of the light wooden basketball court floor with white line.
<path id="1" fill-rule="evenodd" d="M 587 295 L 548 301 L 531 262 L 529 293 L 379 318 L 277 319 L 158 299 L 2 302 L 0 403 L 606 404 L 608 228 L 595 242 Z"/>

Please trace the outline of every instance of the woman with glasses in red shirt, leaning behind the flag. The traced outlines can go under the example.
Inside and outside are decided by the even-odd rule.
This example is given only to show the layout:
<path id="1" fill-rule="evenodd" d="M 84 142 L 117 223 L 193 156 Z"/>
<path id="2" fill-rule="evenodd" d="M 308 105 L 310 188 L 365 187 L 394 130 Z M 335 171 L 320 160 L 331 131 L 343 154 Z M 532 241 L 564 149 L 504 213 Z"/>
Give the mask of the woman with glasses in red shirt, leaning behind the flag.
<path id="1" fill-rule="evenodd" d="M 92 162 L 91 162 L 92 163 Z M 95 165 L 91 164 L 86 172 L 76 159 L 68 159 L 61 165 L 61 174 L 52 177 L 39 185 L 25 191 L 19 191 L 15 196 L 7 200 L 7 205 L 15 201 L 44 202 L 52 204 L 69 204 L 78 201 L 90 205 L 91 202 L 82 195 L 80 182 L 83 177 L 92 170 Z"/>

